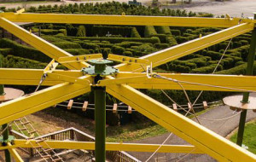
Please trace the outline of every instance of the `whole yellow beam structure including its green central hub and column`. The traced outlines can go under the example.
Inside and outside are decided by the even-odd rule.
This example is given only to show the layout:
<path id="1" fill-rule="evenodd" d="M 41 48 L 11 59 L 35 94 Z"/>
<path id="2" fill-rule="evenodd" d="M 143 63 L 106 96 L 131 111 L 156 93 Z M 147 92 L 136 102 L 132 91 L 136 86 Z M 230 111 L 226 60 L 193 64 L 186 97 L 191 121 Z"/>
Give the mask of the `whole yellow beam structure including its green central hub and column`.
<path id="1" fill-rule="evenodd" d="M 0 150 L 9 150 L 16 161 L 22 161 L 15 148 L 33 148 L 40 143 L 44 149 L 87 149 L 96 150 L 96 162 L 106 159 L 108 151 L 135 151 L 158 153 L 207 153 L 218 161 L 256 160 L 256 155 L 244 148 L 208 130 L 201 124 L 184 117 L 170 107 L 155 101 L 136 89 L 159 90 L 212 90 L 212 91 L 256 91 L 256 77 L 243 75 L 154 73 L 152 69 L 166 62 L 176 60 L 201 49 L 210 47 L 246 32 L 253 31 L 249 52 L 254 58 L 256 48 L 256 20 L 239 18 L 193 18 L 193 17 L 159 17 L 130 15 L 94 15 L 94 14 L 26 14 L 24 10 L 17 13 L 0 13 L 0 27 L 29 43 L 53 59 L 45 69 L 0 68 L 0 84 L 49 86 L 0 105 L 0 124 L 8 124 L 24 116 L 52 107 L 76 96 L 94 91 L 96 142 L 48 141 L 38 139 L 2 140 Z M 214 26 L 225 28 L 222 31 L 196 38 L 140 58 L 121 55 L 108 55 L 103 60 L 101 54 L 73 56 L 42 38 L 28 32 L 14 22 L 34 23 L 69 23 L 99 25 L 131 26 Z M 253 65 L 248 60 L 248 67 Z M 56 62 L 55 62 L 56 61 Z M 114 67 L 107 66 L 112 61 L 120 62 Z M 250 63 L 251 62 L 251 63 Z M 56 70 L 57 64 L 69 70 Z M 43 76 L 43 77 L 42 77 Z M 39 83 L 39 85 L 38 85 Z M 138 113 L 160 124 L 166 130 L 183 138 L 191 145 L 153 145 L 138 143 L 105 142 L 106 137 L 106 92 L 119 101 L 129 105 Z M 189 96 L 189 110 L 194 109 Z M 87 103 L 84 103 L 84 107 Z M 17 108 L 19 107 L 19 108 Z M 180 106 L 178 106 L 180 107 Z M 180 107 L 182 108 L 182 107 Z M 179 159 L 181 160 L 181 159 Z"/>

